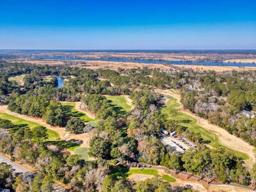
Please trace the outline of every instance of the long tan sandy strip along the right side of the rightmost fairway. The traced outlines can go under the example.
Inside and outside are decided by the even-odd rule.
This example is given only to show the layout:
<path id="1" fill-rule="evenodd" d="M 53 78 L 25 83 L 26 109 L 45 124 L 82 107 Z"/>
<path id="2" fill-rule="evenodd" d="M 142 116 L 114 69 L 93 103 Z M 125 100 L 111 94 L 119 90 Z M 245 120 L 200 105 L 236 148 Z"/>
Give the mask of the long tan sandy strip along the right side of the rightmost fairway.
<path id="1" fill-rule="evenodd" d="M 178 93 L 174 93 L 170 90 L 156 90 L 160 94 L 170 95 L 178 100 L 180 103 L 180 95 Z M 255 157 L 253 156 L 253 146 L 249 145 L 249 143 L 243 141 L 242 139 L 239 139 L 235 137 L 235 135 L 231 135 L 226 130 L 222 129 L 221 127 L 217 125 L 213 125 L 207 121 L 207 119 L 204 119 L 202 117 L 198 117 L 191 113 L 190 111 L 183 108 L 182 104 L 180 103 L 180 107 L 177 107 L 176 109 L 181 111 L 182 113 L 185 113 L 187 115 L 190 115 L 191 117 L 197 119 L 197 124 L 204 127 L 205 129 L 211 131 L 212 133 L 217 134 L 219 141 L 222 145 L 229 147 L 230 149 L 234 149 L 237 151 L 240 151 L 247 156 L 249 156 L 249 159 L 245 160 L 245 164 L 248 167 L 252 167 L 253 163 L 255 162 Z"/>

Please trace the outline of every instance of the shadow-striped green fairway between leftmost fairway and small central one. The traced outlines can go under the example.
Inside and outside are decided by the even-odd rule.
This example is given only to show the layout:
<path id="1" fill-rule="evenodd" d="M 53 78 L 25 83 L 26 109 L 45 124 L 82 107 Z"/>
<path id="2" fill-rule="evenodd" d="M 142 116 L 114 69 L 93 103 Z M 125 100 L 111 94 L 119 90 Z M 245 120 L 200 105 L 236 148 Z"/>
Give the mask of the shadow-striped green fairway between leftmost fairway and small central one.
<path id="1" fill-rule="evenodd" d="M 61 105 L 63 106 L 63 111 L 65 115 L 69 115 L 71 117 L 76 117 L 84 121 L 86 124 L 90 124 L 92 126 L 96 126 L 97 123 L 94 121 L 94 119 L 88 117 L 85 113 L 81 111 L 77 111 L 75 109 L 76 103 L 75 102 L 61 102 Z"/>

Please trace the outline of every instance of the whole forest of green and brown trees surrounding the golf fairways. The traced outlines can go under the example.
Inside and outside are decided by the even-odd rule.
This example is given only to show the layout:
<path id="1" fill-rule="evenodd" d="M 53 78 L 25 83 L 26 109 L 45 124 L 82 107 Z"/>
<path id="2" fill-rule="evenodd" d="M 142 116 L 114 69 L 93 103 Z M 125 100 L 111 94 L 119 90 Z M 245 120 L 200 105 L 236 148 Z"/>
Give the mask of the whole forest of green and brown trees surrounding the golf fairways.
<path id="1" fill-rule="evenodd" d="M 9 81 L 19 75 L 24 75 L 23 85 Z M 43 81 L 43 76 L 51 76 L 51 80 Z M 66 79 L 60 89 L 56 87 L 57 76 Z M 199 133 L 168 119 L 161 113 L 166 98 L 154 91 L 179 91 L 185 108 L 256 147 L 254 71 L 114 71 L 1 61 L 0 79 L 0 102 L 13 113 L 42 118 L 73 134 L 95 130 L 89 152 L 93 160 L 85 161 L 49 144 L 44 126 L 29 129 L 0 119 L 0 153 L 38 171 L 33 180 L 26 179 L 15 175 L 10 165 L 0 163 L 0 186 L 16 191 L 52 191 L 53 183 L 59 181 L 73 191 L 191 191 L 173 187 L 157 175 L 137 183 L 127 180 L 122 173 L 129 168 L 128 162 L 194 173 L 198 180 L 255 184 L 255 164 L 248 170 L 242 159 L 227 149 L 209 148 Z M 106 95 L 129 95 L 133 107 L 120 115 Z M 82 102 L 95 116 L 97 126 L 65 114 L 62 101 Z M 187 137 L 197 147 L 176 153 L 161 142 L 162 129 Z"/>

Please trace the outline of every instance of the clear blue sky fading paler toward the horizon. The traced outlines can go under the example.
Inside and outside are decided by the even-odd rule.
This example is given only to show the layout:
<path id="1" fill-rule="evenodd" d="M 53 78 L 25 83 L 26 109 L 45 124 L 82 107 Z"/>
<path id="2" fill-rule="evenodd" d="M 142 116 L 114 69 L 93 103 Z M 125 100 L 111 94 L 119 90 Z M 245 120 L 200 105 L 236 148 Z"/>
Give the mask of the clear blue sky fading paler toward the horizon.
<path id="1" fill-rule="evenodd" d="M 0 49 L 256 49 L 255 0 L 1 0 Z"/>

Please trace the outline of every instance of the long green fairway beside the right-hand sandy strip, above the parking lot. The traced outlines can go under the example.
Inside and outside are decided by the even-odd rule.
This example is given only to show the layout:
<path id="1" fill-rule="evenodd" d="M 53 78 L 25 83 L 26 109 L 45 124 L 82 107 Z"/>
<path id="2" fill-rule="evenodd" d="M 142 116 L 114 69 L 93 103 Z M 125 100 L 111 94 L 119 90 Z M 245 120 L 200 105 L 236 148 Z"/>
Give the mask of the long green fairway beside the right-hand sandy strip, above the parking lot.
<path id="1" fill-rule="evenodd" d="M 200 133 L 202 138 L 206 141 L 209 142 L 209 145 L 216 147 L 218 145 L 221 145 L 219 142 L 219 138 L 216 134 L 204 129 L 204 127 L 199 126 L 196 124 L 197 120 L 190 115 L 184 114 L 178 110 L 175 110 L 175 107 L 179 107 L 179 103 L 177 102 L 177 99 L 171 97 L 171 96 L 166 96 L 169 98 L 169 101 L 166 103 L 166 107 L 162 108 L 162 113 L 167 115 L 167 118 L 169 119 L 175 119 L 180 122 L 181 126 L 187 127 L 188 130 L 195 132 L 195 133 Z M 241 153 L 239 151 L 230 149 L 226 146 L 221 145 L 222 147 L 225 147 L 232 153 L 234 153 L 236 156 L 242 158 L 242 159 L 248 159 L 248 156 L 244 153 Z"/>

